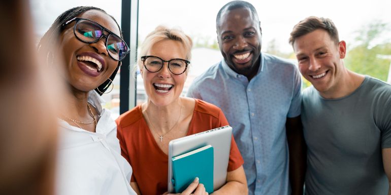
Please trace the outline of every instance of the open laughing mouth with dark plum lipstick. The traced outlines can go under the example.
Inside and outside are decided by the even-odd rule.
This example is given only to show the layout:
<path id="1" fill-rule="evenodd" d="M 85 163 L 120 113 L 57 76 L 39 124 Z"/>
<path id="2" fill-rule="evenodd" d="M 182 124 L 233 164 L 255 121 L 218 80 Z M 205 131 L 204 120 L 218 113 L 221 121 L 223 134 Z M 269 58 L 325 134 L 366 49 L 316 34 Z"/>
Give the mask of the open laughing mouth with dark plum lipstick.
<path id="1" fill-rule="evenodd" d="M 105 60 L 95 53 L 84 52 L 76 56 L 80 69 L 91 76 L 98 76 L 105 69 Z"/>

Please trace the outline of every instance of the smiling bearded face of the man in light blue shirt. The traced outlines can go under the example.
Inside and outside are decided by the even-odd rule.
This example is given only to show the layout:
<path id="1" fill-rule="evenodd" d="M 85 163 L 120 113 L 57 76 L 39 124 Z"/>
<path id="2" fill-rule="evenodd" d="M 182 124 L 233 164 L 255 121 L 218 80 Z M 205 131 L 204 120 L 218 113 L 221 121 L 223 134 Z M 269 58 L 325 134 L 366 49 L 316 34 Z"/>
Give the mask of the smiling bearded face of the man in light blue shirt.
<path id="1" fill-rule="evenodd" d="M 259 67 L 260 32 L 258 19 L 247 8 L 223 11 L 217 24 L 217 39 L 225 62 L 250 79 Z"/>

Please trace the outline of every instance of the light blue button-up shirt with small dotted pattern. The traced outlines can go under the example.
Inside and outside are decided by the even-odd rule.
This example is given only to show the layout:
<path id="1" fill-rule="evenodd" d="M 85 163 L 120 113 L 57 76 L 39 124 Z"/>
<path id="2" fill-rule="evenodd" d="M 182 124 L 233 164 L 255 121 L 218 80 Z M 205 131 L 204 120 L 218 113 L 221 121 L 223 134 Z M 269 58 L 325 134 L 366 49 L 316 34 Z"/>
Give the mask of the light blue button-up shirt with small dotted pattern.
<path id="1" fill-rule="evenodd" d="M 301 77 L 290 61 L 266 53 L 260 58 L 250 81 L 222 60 L 194 80 L 187 96 L 224 112 L 244 159 L 249 194 L 286 195 L 290 189 L 285 122 L 300 115 Z"/>

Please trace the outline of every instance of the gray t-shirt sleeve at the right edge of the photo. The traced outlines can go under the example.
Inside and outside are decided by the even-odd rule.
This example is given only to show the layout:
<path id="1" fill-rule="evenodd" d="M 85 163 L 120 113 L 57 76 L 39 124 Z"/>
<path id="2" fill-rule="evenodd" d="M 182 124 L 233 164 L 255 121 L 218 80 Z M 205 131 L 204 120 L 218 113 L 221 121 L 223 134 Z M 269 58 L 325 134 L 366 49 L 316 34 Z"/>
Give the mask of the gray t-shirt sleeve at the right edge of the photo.
<path id="1" fill-rule="evenodd" d="M 376 103 L 375 123 L 381 131 L 381 148 L 391 148 L 391 87 L 382 91 Z"/>

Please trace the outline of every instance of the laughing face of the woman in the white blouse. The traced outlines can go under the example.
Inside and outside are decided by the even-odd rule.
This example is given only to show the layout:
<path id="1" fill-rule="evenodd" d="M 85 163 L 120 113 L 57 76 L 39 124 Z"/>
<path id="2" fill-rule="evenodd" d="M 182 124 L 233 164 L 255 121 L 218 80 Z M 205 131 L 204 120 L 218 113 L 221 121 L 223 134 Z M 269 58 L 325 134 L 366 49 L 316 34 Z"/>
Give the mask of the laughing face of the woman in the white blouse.
<path id="1" fill-rule="evenodd" d="M 106 13 L 88 10 L 78 16 L 101 24 L 120 35 L 116 22 Z M 76 90 L 88 92 L 105 82 L 118 66 L 106 49 L 106 37 L 96 43 L 83 43 L 77 39 L 71 22 L 60 33 L 60 48 L 63 52 L 68 83 Z M 106 33 L 106 32 L 105 32 Z"/>

